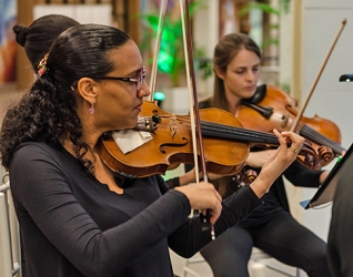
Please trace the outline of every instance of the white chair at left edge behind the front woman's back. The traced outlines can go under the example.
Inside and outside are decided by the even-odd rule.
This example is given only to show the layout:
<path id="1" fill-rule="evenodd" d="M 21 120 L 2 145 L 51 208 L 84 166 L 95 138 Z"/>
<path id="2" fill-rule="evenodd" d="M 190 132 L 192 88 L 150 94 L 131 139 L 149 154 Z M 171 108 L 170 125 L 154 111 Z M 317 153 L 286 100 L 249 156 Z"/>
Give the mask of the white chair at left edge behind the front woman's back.
<path id="1" fill-rule="evenodd" d="M 10 184 L 0 185 L 0 276 L 21 276 L 19 225 Z"/>

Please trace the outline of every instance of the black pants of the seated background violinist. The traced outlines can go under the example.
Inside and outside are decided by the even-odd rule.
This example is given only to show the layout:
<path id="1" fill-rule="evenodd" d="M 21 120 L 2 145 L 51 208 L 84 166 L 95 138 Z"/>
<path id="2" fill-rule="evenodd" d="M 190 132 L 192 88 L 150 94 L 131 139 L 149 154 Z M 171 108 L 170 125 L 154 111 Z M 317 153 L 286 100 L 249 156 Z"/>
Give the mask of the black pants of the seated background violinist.
<path id="1" fill-rule="evenodd" d="M 262 227 L 228 229 L 201 250 L 214 277 L 249 276 L 248 263 L 255 246 L 275 259 L 302 268 L 310 277 L 331 277 L 326 244 L 283 212 Z"/>

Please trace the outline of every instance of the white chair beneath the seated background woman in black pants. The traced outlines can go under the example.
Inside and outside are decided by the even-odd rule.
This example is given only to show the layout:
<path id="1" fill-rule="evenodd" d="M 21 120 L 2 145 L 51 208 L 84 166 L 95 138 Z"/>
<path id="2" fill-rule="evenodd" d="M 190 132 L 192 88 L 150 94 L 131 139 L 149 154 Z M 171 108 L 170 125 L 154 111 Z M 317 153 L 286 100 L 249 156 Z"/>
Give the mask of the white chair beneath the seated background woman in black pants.
<path id="1" fill-rule="evenodd" d="M 281 273 L 283 276 L 291 276 L 291 277 L 300 277 L 301 276 L 301 269 L 296 268 L 295 274 L 285 271 L 282 268 L 275 267 L 269 263 L 264 263 L 264 259 L 271 259 L 272 257 L 270 255 L 268 255 L 266 253 L 264 253 L 263 250 L 260 250 L 256 247 L 253 247 L 251 256 L 250 256 L 250 260 L 252 261 L 256 261 L 256 263 L 261 263 L 262 265 L 264 265 L 265 267 Z M 194 264 L 200 264 L 200 263 L 206 263 L 203 257 L 200 254 L 196 254 L 195 256 L 185 259 L 184 266 L 183 266 L 183 275 L 182 277 L 189 277 L 189 276 L 193 276 L 193 277 L 201 277 L 201 275 L 199 273 L 196 273 L 194 269 L 190 268 L 191 265 Z"/>

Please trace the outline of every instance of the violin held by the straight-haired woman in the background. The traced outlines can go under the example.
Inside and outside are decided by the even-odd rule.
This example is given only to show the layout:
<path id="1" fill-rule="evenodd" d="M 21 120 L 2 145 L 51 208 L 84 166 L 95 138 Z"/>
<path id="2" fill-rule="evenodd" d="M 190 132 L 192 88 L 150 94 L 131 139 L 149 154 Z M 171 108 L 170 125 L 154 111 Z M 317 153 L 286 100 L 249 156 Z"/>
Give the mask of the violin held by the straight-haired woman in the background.
<path id="1" fill-rule="evenodd" d="M 288 93 L 276 86 L 264 84 L 258 86 L 251 99 L 242 101 L 236 119 L 244 127 L 251 130 L 290 131 L 297 116 L 296 106 L 297 101 Z M 341 146 L 342 136 L 339 126 L 330 120 L 317 115 L 311 119 L 302 116 L 295 132 L 312 142 L 311 145 L 317 153 L 322 166 L 346 151 Z M 236 174 L 235 178 L 242 184 L 250 184 L 256 175 L 258 173 L 253 170 L 244 170 Z"/>

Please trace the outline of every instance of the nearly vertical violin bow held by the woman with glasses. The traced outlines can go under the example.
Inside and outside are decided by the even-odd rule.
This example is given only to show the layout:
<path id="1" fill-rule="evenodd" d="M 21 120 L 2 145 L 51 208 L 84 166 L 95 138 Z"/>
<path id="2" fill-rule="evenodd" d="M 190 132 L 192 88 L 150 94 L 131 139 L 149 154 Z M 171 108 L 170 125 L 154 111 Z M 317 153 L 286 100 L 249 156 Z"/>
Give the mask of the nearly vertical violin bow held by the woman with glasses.
<path id="1" fill-rule="evenodd" d="M 193 142 L 195 178 L 196 178 L 196 182 L 199 182 L 199 162 L 198 162 L 198 145 L 196 145 L 196 130 L 199 130 L 198 142 L 200 147 L 200 156 L 201 156 L 201 165 L 202 165 L 201 167 L 203 173 L 203 179 L 208 182 L 206 165 L 205 165 L 201 124 L 200 124 L 200 111 L 199 111 L 199 100 L 198 100 L 196 81 L 195 81 L 195 72 L 194 72 L 194 63 L 193 63 L 193 47 L 192 47 L 191 23 L 190 23 L 188 0 L 185 0 L 184 3 L 185 4 L 183 6 L 182 0 L 180 0 L 181 22 L 182 22 L 182 30 L 183 30 L 184 55 L 185 55 L 186 82 L 188 82 L 188 89 L 189 89 L 189 111 L 190 111 L 191 133 L 192 133 L 192 142 Z M 184 22 L 184 17 L 186 19 L 186 25 Z M 203 216 L 202 220 L 204 224 L 210 224 L 210 215 L 211 215 L 210 213 L 211 211 L 208 209 L 205 216 Z M 200 216 L 201 215 L 202 213 L 200 214 Z M 215 239 L 214 227 L 212 224 L 211 224 L 211 238 Z"/>

